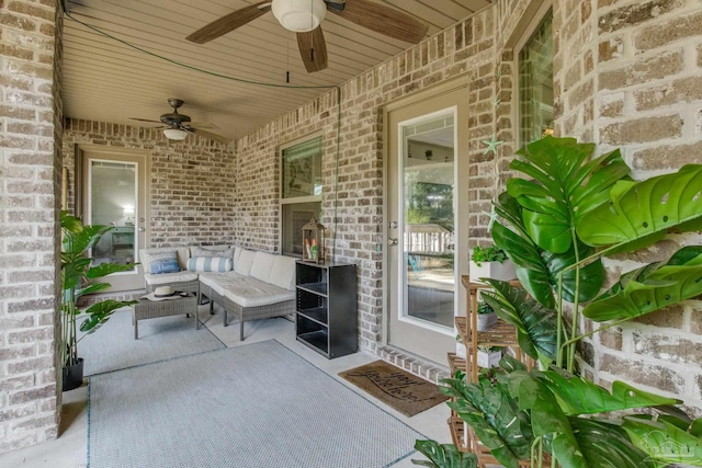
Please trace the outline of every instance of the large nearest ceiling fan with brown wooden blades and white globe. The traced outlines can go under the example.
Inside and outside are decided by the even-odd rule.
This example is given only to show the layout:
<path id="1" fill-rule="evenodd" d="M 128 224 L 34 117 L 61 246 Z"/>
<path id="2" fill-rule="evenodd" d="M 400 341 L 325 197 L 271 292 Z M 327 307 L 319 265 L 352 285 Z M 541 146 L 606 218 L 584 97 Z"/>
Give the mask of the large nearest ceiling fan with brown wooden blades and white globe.
<path id="1" fill-rule="evenodd" d="M 204 44 L 273 12 L 286 30 L 297 33 L 297 48 L 307 72 L 327 68 L 327 45 L 320 23 L 330 11 L 376 33 L 417 44 L 429 25 L 416 18 L 369 0 L 269 0 L 234 11 L 192 33 L 185 39 Z"/>

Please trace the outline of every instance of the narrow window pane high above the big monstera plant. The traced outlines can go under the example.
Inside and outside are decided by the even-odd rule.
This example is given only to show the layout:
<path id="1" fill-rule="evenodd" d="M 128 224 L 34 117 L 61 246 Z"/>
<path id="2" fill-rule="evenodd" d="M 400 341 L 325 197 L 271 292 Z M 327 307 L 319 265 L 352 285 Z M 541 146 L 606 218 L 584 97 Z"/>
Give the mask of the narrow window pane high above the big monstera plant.
<path id="1" fill-rule="evenodd" d="M 519 53 L 520 142 L 553 133 L 553 33 L 548 12 Z"/>

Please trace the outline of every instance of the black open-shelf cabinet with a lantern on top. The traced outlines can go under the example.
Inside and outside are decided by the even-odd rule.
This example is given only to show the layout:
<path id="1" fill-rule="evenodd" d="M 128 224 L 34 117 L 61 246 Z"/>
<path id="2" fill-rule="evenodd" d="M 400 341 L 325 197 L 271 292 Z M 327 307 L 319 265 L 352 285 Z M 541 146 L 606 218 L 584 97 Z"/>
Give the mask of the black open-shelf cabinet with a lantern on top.
<path id="1" fill-rule="evenodd" d="M 355 265 L 298 261 L 295 277 L 297 341 L 328 358 L 355 353 Z"/>

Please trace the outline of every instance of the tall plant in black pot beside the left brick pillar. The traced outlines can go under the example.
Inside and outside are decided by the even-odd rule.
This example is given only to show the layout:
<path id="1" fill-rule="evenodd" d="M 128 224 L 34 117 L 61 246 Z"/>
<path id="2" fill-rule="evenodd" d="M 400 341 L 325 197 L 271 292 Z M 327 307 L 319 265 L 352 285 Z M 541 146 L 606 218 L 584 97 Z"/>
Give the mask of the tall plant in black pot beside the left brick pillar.
<path id="1" fill-rule="evenodd" d="M 80 330 L 86 333 L 97 331 L 105 323 L 112 313 L 125 306 L 136 304 L 136 300 L 106 299 L 90 306 L 84 312 L 78 308 L 78 299 L 82 296 L 104 290 L 110 283 L 95 282 L 111 273 L 126 272 L 135 264 L 101 263 L 91 266 L 92 259 L 87 254 L 106 232 L 110 226 L 86 226 L 69 212 L 61 212 L 61 363 L 63 390 L 80 387 L 83 380 L 83 358 L 78 357 L 77 321 L 81 317 L 86 320 Z M 83 335 L 84 336 L 84 335 Z"/>

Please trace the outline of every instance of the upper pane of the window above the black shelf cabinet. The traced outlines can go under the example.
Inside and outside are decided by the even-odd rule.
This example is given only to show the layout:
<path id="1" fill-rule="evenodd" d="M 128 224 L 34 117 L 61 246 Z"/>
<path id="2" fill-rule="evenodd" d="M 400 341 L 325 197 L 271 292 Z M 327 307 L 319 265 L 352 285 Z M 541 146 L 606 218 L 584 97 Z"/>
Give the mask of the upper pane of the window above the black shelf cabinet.
<path id="1" fill-rule="evenodd" d="M 282 198 L 321 195 L 321 137 L 285 148 Z"/>

